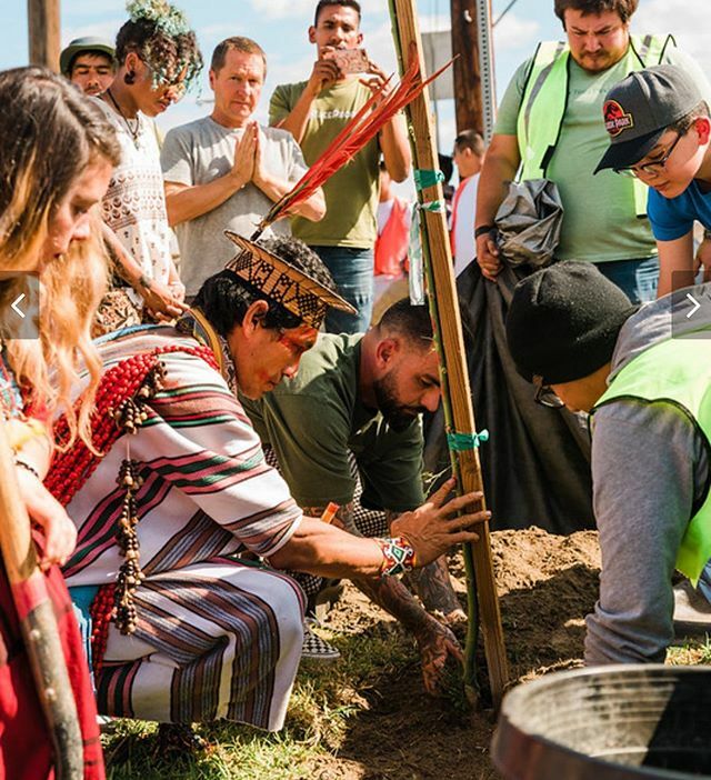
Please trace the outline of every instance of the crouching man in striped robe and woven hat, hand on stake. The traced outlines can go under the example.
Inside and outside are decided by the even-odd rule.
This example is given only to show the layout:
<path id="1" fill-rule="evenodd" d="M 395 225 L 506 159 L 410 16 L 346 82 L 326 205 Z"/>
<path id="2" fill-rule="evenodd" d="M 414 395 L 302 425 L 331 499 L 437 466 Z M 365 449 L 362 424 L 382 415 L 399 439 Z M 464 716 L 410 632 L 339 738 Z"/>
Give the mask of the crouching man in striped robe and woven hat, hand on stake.
<path id="1" fill-rule="evenodd" d="M 444 504 L 440 492 L 383 540 L 303 517 L 237 392 L 259 398 L 293 376 L 328 307 L 348 304 L 312 252 L 230 238 L 238 256 L 176 327 L 100 341 L 101 454 L 72 448 L 50 487 L 79 526 L 68 582 L 97 589 L 99 710 L 278 730 L 301 654 L 303 594 L 237 556 L 327 577 L 391 576 L 474 539 L 468 529 L 485 514 L 457 517 L 472 497 Z"/>

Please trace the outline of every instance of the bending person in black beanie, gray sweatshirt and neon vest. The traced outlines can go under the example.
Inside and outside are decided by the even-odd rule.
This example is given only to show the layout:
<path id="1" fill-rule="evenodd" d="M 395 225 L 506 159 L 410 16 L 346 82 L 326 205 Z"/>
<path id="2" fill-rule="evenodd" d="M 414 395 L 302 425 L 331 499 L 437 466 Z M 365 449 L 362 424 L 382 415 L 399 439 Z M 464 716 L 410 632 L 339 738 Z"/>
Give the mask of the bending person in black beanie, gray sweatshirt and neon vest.
<path id="1" fill-rule="evenodd" d="M 589 263 L 559 262 L 519 282 L 509 309 L 535 400 L 592 414 L 589 664 L 663 661 L 674 569 L 695 584 L 711 557 L 711 286 L 683 292 L 703 306 L 678 293 L 638 309 Z"/>

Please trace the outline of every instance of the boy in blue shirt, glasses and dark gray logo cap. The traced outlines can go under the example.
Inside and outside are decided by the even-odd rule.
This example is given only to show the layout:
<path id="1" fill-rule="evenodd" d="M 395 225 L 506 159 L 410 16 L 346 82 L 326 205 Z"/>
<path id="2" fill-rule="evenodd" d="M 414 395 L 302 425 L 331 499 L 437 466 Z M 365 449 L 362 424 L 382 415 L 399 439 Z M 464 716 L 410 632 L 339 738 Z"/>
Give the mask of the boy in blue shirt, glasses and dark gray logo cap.
<path id="1" fill-rule="evenodd" d="M 709 106 L 684 70 L 659 66 L 615 84 L 603 117 L 610 147 L 595 173 L 612 168 L 649 184 L 659 294 L 687 287 L 694 271 L 693 222 L 711 229 Z"/>

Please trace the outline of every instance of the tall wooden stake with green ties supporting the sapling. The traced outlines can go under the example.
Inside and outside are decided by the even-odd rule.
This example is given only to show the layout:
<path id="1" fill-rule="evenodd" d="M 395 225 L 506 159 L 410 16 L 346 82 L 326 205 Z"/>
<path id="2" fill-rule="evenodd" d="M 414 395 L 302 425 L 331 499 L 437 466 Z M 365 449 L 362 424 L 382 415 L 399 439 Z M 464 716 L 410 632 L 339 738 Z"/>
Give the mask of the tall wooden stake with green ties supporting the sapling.
<path id="1" fill-rule="evenodd" d="M 419 59 L 420 72 L 424 73 L 424 58 L 417 19 L 415 0 L 390 0 L 390 2 L 393 36 L 401 70 L 405 64 L 403 60 L 407 54 L 408 58 L 415 57 Z M 407 112 L 415 167 L 421 171 L 434 171 L 438 169 L 438 157 L 427 90 L 410 103 Z M 442 187 L 439 182 L 421 189 L 418 192 L 418 198 L 420 203 L 444 202 Z M 442 403 L 447 429 L 450 433 L 473 436 L 477 430 L 474 411 L 469 387 L 464 341 L 445 217 L 442 212 L 437 211 L 422 210 L 421 213 L 423 259 L 430 291 L 428 298 L 440 353 Z M 450 450 L 450 452 L 453 471 L 459 478 L 459 490 L 461 492 L 475 490 L 483 492 L 481 466 L 477 449 L 471 448 L 461 452 Z M 482 499 L 478 509 L 484 508 L 485 502 Z M 470 699 L 475 699 L 477 627 L 480 624 L 484 640 L 491 694 L 494 707 L 498 709 L 508 682 L 509 672 L 491 560 L 489 524 L 483 523 L 480 526 L 478 532 L 479 541 L 471 546 L 464 546 L 470 608 L 464 686 Z M 475 582 L 475 596 L 472 581 Z"/>

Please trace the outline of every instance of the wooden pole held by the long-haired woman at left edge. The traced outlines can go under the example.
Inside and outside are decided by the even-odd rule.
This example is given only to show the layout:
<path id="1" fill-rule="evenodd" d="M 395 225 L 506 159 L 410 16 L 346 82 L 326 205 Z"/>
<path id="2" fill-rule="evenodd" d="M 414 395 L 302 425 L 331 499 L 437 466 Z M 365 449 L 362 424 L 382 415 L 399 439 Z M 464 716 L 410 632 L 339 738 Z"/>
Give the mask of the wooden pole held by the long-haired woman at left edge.
<path id="1" fill-rule="evenodd" d="M 16 478 L 16 466 L 0 414 L 0 550 L 20 619 L 34 684 L 54 746 L 58 780 L 84 776 L 77 703 L 64 663 L 54 607 L 37 566 L 30 520 Z"/>

